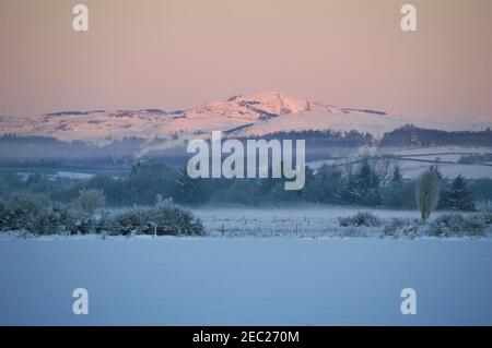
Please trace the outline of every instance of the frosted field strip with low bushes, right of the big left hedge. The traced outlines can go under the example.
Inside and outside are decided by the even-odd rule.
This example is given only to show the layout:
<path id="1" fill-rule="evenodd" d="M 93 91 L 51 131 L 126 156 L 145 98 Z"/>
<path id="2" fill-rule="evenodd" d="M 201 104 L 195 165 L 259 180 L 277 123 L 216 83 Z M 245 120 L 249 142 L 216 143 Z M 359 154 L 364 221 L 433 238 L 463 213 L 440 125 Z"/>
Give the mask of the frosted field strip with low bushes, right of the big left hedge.
<path id="1" fill-rule="evenodd" d="M 338 238 L 373 237 L 488 237 L 492 232 L 492 214 L 437 212 L 427 223 L 422 221 L 417 211 L 373 209 L 358 212 L 353 208 L 304 206 L 291 208 L 216 208 L 195 211 L 203 221 L 207 236 L 216 238 L 236 237 L 286 237 L 286 238 Z M 399 217 L 395 217 L 397 215 Z M 448 215 L 458 216 L 468 225 L 448 225 L 454 233 L 440 233 L 441 223 Z"/>

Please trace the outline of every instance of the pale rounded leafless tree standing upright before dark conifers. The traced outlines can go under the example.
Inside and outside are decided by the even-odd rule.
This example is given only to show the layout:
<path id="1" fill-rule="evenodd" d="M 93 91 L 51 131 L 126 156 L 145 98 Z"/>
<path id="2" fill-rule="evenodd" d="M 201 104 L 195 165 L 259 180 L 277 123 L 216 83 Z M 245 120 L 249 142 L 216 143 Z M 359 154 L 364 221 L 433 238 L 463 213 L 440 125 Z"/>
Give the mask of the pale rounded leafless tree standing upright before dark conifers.
<path id="1" fill-rule="evenodd" d="M 441 180 L 432 168 L 422 172 L 417 181 L 415 201 L 422 220 L 429 220 L 431 212 L 436 208 L 440 201 Z"/>

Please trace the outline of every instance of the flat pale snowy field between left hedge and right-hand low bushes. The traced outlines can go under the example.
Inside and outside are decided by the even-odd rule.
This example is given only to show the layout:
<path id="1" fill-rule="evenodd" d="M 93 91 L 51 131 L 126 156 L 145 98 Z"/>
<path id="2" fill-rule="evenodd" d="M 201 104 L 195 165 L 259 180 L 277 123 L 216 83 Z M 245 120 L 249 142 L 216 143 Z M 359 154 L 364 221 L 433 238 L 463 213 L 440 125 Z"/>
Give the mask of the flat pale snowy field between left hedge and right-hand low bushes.
<path id="1" fill-rule="evenodd" d="M 358 212 L 371 212 L 382 219 L 400 217 L 420 220 L 420 213 L 417 209 L 371 209 L 319 204 L 280 208 L 210 206 L 195 209 L 194 214 L 202 220 L 207 235 L 210 237 L 378 237 L 380 235 L 378 228 L 343 228 L 339 226 L 338 217 L 352 216 Z M 434 212 L 431 220 L 449 213 L 445 211 Z"/>

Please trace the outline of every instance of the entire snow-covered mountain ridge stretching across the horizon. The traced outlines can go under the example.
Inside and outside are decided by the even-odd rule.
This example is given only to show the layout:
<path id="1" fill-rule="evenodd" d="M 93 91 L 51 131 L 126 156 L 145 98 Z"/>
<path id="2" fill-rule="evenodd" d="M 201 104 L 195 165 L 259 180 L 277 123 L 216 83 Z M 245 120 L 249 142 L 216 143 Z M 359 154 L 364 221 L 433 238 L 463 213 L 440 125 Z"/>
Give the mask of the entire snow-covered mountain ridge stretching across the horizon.
<path id="1" fill-rule="evenodd" d="M 253 136 L 282 131 L 333 130 L 370 132 L 382 136 L 406 123 L 442 130 L 482 130 L 492 125 L 487 118 L 419 119 L 383 111 L 339 108 L 282 93 L 236 95 L 178 111 L 161 109 L 61 111 L 38 117 L 0 117 L 0 132 L 46 135 L 104 144 L 122 137 L 166 137 L 165 145 L 183 144 L 191 137 L 207 137 L 212 130 L 230 136 Z"/>

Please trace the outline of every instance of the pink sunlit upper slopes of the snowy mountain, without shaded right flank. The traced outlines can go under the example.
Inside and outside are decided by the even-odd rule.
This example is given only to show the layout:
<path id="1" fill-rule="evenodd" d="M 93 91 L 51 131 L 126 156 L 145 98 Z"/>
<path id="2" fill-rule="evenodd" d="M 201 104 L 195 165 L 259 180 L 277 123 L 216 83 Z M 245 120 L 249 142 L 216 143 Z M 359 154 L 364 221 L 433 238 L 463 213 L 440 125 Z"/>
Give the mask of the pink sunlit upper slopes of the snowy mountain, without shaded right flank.
<path id="1" fill-rule="evenodd" d="M 343 112 L 332 106 L 270 92 L 254 96 L 237 95 L 224 101 L 211 101 L 172 112 L 161 109 L 92 110 L 60 111 L 31 118 L 1 117 L 0 131 L 106 143 L 125 136 L 153 139 L 180 133 L 186 137 L 186 133 L 196 135 L 212 130 L 231 130 L 281 115 L 314 111 Z"/>

